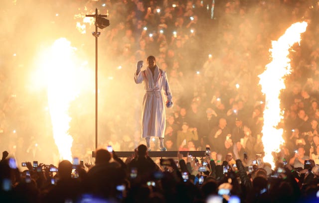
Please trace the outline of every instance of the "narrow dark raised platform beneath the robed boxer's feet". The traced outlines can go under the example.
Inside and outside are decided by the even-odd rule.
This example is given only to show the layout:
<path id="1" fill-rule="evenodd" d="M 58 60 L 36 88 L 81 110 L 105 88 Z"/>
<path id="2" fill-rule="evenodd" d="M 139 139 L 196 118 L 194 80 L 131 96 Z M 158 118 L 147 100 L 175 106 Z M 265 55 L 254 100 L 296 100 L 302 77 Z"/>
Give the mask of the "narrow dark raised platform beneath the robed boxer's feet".
<path id="1" fill-rule="evenodd" d="M 149 152 L 150 157 L 177 157 L 178 151 L 151 151 Z M 187 156 L 187 152 L 189 155 L 193 157 L 204 157 L 205 151 L 180 151 L 179 153 L 183 154 L 184 157 Z M 118 157 L 131 157 L 134 152 L 115 152 Z M 92 157 L 95 157 L 95 151 L 92 152 Z"/>

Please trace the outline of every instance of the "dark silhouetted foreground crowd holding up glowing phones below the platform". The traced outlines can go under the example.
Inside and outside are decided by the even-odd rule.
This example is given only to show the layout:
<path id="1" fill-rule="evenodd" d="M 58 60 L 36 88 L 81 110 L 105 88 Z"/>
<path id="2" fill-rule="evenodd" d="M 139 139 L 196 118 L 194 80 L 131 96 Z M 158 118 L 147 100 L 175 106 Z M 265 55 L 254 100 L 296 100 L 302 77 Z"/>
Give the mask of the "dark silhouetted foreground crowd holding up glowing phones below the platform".
<path id="1" fill-rule="evenodd" d="M 111 150 L 110 150 L 111 151 Z M 210 152 L 177 160 L 148 156 L 140 145 L 123 162 L 115 151 L 98 149 L 95 164 L 78 158 L 58 167 L 25 162 L 19 171 L 14 158 L 2 153 L 0 200 L 19 203 L 302 203 L 318 202 L 319 166 L 307 160 L 303 168 L 284 159 L 275 170 L 263 155 L 233 147 L 234 156 Z M 299 152 L 301 153 L 301 152 Z M 253 160 L 251 159 L 253 157 Z"/>

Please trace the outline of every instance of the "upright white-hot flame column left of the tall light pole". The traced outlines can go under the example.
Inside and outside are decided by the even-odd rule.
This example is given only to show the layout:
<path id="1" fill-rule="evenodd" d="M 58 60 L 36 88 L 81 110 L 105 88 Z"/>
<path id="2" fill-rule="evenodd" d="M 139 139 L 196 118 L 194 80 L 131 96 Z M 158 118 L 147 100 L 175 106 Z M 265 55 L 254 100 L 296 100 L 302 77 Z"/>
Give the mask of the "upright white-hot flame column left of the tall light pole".
<path id="1" fill-rule="evenodd" d="M 48 104 L 53 127 L 53 137 L 60 153 L 60 159 L 71 161 L 73 138 L 69 135 L 69 106 L 76 96 L 75 64 L 72 55 L 75 48 L 65 38 L 54 42 L 51 61 L 47 69 Z"/>

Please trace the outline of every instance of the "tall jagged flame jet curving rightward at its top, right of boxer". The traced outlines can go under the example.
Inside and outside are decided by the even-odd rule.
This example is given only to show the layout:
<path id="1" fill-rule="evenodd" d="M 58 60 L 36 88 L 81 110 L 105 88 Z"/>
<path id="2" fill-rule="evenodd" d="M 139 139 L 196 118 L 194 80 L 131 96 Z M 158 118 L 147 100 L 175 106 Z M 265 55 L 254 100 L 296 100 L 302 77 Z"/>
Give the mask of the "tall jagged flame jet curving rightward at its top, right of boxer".
<path id="1" fill-rule="evenodd" d="M 272 61 L 266 65 L 264 73 L 259 75 L 259 84 L 265 94 L 264 126 L 262 129 L 262 142 L 264 145 L 264 162 L 268 162 L 275 167 L 272 152 L 278 152 L 280 145 L 284 143 L 283 129 L 278 129 L 277 125 L 282 119 L 283 112 L 280 109 L 280 91 L 285 89 L 285 76 L 291 73 L 289 49 L 296 42 L 300 42 L 301 33 L 307 28 L 306 22 L 292 24 L 278 41 L 272 41 L 271 53 Z"/>

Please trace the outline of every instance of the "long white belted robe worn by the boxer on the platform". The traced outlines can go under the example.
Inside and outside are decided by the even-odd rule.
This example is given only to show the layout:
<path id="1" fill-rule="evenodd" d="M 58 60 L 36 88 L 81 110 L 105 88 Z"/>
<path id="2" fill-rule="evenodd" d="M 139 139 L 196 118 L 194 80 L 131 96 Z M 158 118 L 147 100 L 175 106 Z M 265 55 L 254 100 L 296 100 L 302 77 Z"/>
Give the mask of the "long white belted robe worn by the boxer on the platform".
<path id="1" fill-rule="evenodd" d="M 165 131 L 165 102 L 172 102 L 172 96 L 166 73 L 157 65 L 152 71 L 148 67 L 144 71 L 134 74 L 136 84 L 144 82 L 145 95 L 142 104 L 142 137 L 156 136 L 164 138 Z"/>

